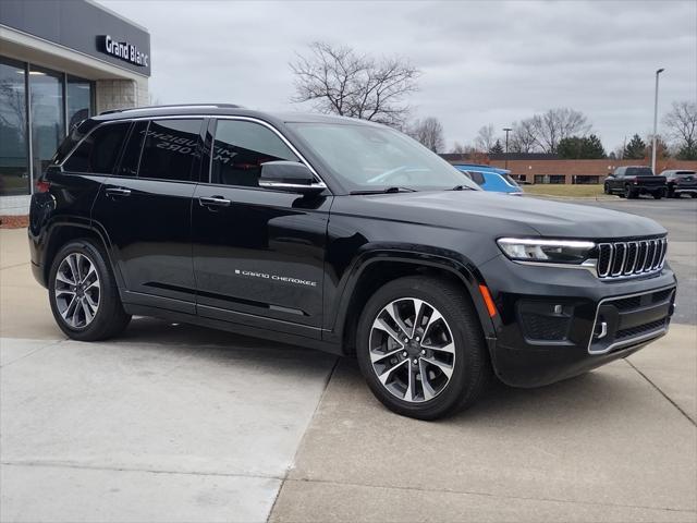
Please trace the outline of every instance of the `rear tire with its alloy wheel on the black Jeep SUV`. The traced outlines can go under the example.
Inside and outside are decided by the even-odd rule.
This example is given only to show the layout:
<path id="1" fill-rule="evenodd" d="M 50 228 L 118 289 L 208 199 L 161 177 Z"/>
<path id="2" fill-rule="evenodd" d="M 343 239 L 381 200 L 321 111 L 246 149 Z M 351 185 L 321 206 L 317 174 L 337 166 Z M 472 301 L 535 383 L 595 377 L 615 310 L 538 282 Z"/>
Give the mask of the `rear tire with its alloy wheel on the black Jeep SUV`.
<path id="1" fill-rule="evenodd" d="M 91 240 L 61 247 L 51 264 L 48 291 L 56 323 L 74 340 L 105 340 L 121 333 L 131 321 L 107 256 Z"/>

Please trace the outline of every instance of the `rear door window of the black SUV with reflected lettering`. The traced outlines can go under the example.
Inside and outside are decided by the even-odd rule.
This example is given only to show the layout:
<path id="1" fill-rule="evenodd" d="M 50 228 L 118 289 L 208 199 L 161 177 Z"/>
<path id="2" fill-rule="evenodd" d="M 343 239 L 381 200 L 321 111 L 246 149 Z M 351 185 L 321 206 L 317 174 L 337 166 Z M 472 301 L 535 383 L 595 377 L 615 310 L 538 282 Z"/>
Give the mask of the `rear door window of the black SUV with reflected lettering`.
<path id="1" fill-rule="evenodd" d="M 198 165 L 203 120 L 152 120 L 145 134 L 138 178 L 188 181 Z"/>

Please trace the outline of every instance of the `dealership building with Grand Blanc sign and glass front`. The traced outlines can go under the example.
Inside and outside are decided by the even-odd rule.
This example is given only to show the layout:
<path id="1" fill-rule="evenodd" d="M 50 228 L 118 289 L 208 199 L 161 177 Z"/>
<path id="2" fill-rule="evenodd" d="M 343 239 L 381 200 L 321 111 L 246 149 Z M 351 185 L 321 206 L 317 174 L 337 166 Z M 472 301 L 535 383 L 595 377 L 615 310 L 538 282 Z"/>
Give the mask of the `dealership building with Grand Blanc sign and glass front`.
<path id="1" fill-rule="evenodd" d="M 147 105 L 147 29 L 90 0 L 0 1 L 0 215 L 24 215 L 71 127 Z"/>

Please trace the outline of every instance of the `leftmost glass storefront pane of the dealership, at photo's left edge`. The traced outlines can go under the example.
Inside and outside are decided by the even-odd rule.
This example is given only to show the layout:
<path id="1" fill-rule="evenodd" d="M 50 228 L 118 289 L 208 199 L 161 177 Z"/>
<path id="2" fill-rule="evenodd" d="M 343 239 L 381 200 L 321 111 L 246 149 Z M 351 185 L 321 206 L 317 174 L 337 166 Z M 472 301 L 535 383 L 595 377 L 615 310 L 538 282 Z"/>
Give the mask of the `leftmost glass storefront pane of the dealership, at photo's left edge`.
<path id="1" fill-rule="evenodd" d="M 0 58 L 0 195 L 28 194 L 25 64 Z"/>

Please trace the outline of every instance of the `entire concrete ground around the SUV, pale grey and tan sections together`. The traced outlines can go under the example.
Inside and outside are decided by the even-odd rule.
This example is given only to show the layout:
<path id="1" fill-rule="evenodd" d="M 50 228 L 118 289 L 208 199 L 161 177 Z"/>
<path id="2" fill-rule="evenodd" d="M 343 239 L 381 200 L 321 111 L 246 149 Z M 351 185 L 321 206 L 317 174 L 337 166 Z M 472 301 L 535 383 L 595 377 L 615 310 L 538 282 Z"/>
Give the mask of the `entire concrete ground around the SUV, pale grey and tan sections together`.
<path id="1" fill-rule="evenodd" d="M 695 326 L 425 423 L 314 351 L 145 318 L 68 341 L 27 256 L 0 231 L 3 522 L 697 521 Z"/>

